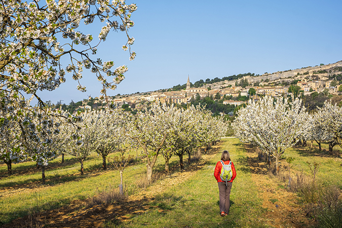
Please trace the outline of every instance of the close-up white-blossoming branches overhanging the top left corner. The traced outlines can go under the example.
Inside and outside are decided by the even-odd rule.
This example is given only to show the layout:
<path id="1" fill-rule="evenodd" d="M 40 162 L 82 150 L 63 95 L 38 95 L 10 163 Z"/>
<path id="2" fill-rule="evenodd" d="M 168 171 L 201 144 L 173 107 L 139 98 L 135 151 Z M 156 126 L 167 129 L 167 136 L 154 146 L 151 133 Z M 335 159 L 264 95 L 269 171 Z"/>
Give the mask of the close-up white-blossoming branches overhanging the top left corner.
<path id="1" fill-rule="evenodd" d="M 89 69 L 101 82 L 103 95 L 107 89 L 115 89 L 125 78 L 127 67 L 122 65 L 110 70 L 114 65 L 113 61 L 102 62 L 92 55 L 96 54 L 99 44 L 106 40 L 110 30 L 121 30 L 127 36 L 127 42 L 122 48 L 129 50 L 130 59 L 134 59 L 135 52 L 130 50 L 134 38 L 128 35 L 128 29 L 134 25 L 131 13 L 136 9 L 135 4 L 126 5 L 124 0 L 1 2 L 0 127 L 9 128 L 11 122 L 15 121 L 22 131 L 15 138 L 24 137 L 25 140 L 25 137 L 37 137 L 34 132 L 39 129 L 29 130 L 23 127 L 37 126 L 28 123 L 33 119 L 22 118 L 23 113 L 31 112 L 30 100 L 26 100 L 24 94 L 35 96 L 39 100 L 39 106 L 44 106 L 36 91 L 56 89 L 65 82 L 66 73 L 70 73 L 72 79 L 79 82 L 78 89 L 81 91 L 86 91 L 80 82 L 84 69 Z M 94 34 L 86 34 L 79 27 L 81 23 L 89 25 L 95 20 L 105 23 L 96 34 L 98 42 L 95 41 Z M 68 65 L 63 66 L 65 61 Z M 72 119 L 68 121 L 72 122 Z M 24 129 L 29 131 L 23 132 Z M 0 140 L 5 140 L 5 135 L 0 137 Z"/>

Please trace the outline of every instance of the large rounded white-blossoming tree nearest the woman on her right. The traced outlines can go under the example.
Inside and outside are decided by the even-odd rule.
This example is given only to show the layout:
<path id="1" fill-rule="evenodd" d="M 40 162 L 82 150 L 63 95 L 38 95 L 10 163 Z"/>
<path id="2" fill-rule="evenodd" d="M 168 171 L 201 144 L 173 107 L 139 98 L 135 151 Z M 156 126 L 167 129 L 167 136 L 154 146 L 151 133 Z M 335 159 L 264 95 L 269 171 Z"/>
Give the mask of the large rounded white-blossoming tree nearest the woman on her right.
<path id="1" fill-rule="evenodd" d="M 237 112 L 233 122 L 236 137 L 243 142 L 257 145 L 262 151 L 276 159 L 286 148 L 293 146 L 305 133 L 308 113 L 301 99 L 292 97 L 273 98 L 265 96 L 255 102 L 249 100 L 246 107 Z"/>

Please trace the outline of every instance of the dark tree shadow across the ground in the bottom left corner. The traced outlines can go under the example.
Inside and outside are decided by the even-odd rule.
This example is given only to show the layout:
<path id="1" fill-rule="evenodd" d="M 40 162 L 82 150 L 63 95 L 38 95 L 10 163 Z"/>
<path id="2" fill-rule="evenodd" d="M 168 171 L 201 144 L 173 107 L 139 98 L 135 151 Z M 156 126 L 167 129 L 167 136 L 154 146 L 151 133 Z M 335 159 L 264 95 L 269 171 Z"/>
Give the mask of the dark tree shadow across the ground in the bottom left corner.
<path id="1" fill-rule="evenodd" d="M 90 208 L 85 206 L 88 200 L 74 200 L 70 203 L 70 200 L 65 198 L 34 207 L 32 209 L 38 211 L 35 214 L 39 217 L 36 216 L 33 219 L 36 219 L 36 223 L 41 224 L 39 227 L 103 227 L 104 223 L 114 224 L 113 227 L 116 227 L 132 216 L 144 214 L 148 210 L 158 209 L 161 213 L 165 213 L 170 209 L 164 210 L 159 206 L 169 208 L 172 203 L 179 202 L 182 198 L 169 196 L 159 202 L 160 205 L 155 206 L 149 205 L 151 199 L 146 198 L 137 201 L 115 201 Z M 6 215 L 0 212 L 0 217 L 4 218 L 4 216 L 7 216 L 7 219 L 0 221 L 3 228 L 28 227 L 27 224 L 32 220 L 29 209 Z M 19 216 L 20 218 L 17 218 Z M 10 220 L 12 221 L 6 224 Z"/>

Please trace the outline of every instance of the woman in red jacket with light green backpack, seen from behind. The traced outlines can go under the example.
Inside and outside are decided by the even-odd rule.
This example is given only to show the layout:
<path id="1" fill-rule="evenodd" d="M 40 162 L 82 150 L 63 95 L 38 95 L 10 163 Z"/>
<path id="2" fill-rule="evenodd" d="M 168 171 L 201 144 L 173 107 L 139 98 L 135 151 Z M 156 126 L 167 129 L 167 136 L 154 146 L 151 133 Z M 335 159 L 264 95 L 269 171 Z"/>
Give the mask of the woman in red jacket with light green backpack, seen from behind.
<path id="1" fill-rule="evenodd" d="M 222 169 L 223 164 L 224 169 Z M 224 173 L 228 175 L 223 175 Z M 214 171 L 214 176 L 218 184 L 221 216 L 225 216 L 229 214 L 229 208 L 231 207 L 229 197 L 231 194 L 233 180 L 236 177 L 235 167 L 233 162 L 231 161 L 231 156 L 227 150 L 223 151 L 221 155 L 221 161 L 217 162 Z"/>

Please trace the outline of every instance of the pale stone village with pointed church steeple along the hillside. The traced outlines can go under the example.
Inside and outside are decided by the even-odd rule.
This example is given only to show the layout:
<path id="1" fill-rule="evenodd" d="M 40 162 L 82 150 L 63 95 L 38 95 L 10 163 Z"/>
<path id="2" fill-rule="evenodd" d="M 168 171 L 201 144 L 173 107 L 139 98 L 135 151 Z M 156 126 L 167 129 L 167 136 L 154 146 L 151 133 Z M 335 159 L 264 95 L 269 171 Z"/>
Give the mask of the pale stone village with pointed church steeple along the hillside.
<path id="1" fill-rule="evenodd" d="M 323 92 L 337 95 L 338 87 L 342 83 L 342 61 L 315 67 L 303 67 L 301 69 L 278 71 L 275 73 L 264 73 L 255 77 L 250 75 L 239 80 L 224 80 L 213 84 L 204 84 L 203 87 L 192 86 L 189 76 L 187 77 L 186 88 L 173 91 L 159 90 L 146 93 L 135 93 L 130 95 L 108 96 L 106 102 L 113 102 L 117 106 L 126 105 L 135 107 L 136 103 L 142 101 L 184 104 L 191 99 L 203 99 L 212 96 L 215 99 L 223 99 L 223 104 L 241 105 L 246 102 L 238 97 L 249 96 L 258 100 L 260 95 L 273 97 L 291 94 L 294 90 L 302 92 L 304 95 L 313 92 Z M 291 88 L 292 87 L 292 88 Z M 91 102 L 90 102 L 91 101 Z M 82 104 L 78 102 L 80 109 L 106 108 L 105 99 L 99 97 L 89 97 L 84 99 Z"/>

